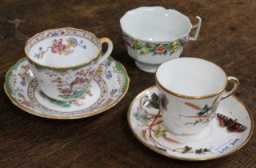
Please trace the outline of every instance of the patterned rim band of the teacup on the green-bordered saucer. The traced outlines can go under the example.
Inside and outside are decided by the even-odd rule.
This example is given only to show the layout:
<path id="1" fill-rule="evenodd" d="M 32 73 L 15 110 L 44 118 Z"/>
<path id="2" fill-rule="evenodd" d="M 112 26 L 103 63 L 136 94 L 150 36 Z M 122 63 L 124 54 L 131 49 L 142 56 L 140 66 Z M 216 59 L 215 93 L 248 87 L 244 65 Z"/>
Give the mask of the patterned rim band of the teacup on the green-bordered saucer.
<path id="1" fill-rule="evenodd" d="M 82 62 L 82 63 L 79 63 L 77 65 L 74 65 L 74 66 L 46 66 L 46 65 L 43 65 L 43 64 L 40 64 L 38 62 L 34 62 L 28 52 L 26 51 L 26 47 L 28 46 L 29 42 L 32 41 L 36 36 L 38 36 L 38 34 L 44 34 L 48 31 L 52 31 L 52 30 L 79 30 L 79 31 L 82 31 L 86 34 L 90 34 L 91 36 L 93 36 L 95 39 L 98 40 L 98 43 L 100 44 L 98 46 L 98 51 L 97 53 L 94 55 L 93 58 L 91 58 L 89 61 L 86 61 L 86 62 Z M 74 28 L 74 27 L 60 27 L 60 28 L 54 28 L 54 29 L 49 29 L 49 30 L 44 30 L 42 32 L 39 32 L 37 34 L 34 34 L 31 38 L 29 38 L 27 41 L 26 41 L 26 46 L 24 46 L 24 51 L 25 51 L 25 55 L 26 55 L 26 58 L 30 61 L 30 62 L 33 62 L 35 65 L 38 65 L 38 66 L 43 66 L 43 67 L 46 67 L 46 68 L 50 68 L 50 69 L 54 69 L 54 70 L 58 70 L 58 69 L 70 69 L 70 68 L 75 68 L 75 67 L 79 67 L 79 66 L 84 66 L 86 65 L 87 63 L 89 62 L 92 62 L 93 60 L 95 60 L 96 58 L 98 58 L 100 56 L 100 53 L 102 51 L 102 45 L 101 45 L 101 42 L 100 40 L 96 37 L 95 34 L 91 33 L 90 31 L 87 31 L 87 30 L 82 30 L 82 29 L 77 29 L 77 28 Z"/>

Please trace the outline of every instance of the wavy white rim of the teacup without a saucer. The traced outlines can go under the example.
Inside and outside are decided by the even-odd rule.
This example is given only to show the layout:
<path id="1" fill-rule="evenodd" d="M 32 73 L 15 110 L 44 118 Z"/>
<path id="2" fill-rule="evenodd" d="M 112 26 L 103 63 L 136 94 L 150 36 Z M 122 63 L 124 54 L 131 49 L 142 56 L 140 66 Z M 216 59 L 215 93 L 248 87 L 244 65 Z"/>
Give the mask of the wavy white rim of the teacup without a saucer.
<path id="1" fill-rule="evenodd" d="M 142 40 L 142 39 L 140 39 L 140 38 L 135 38 L 133 35 L 128 34 L 128 33 L 124 30 L 124 26 L 122 26 L 122 21 L 125 22 L 125 18 L 127 17 L 127 15 L 128 15 L 130 12 L 136 11 L 136 10 L 146 10 L 146 9 L 161 9 L 161 10 L 165 10 L 166 12 L 168 12 L 168 11 L 177 12 L 178 14 L 181 14 L 182 17 L 187 18 L 187 20 L 188 20 L 189 23 L 190 23 L 190 30 L 188 30 L 188 31 L 186 32 L 186 34 L 180 35 L 178 38 L 174 38 L 174 39 L 171 39 L 171 40 L 168 40 L 168 41 L 160 41 L 160 40 L 159 40 L 159 41 L 149 41 L 149 40 Z M 186 37 L 187 34 L 190 34 L 190 31 L 191 31 L 191 29 L 192 29 L 192 27 L 193 27 L 193 26 L 192 26 L 192 23 L 190 22 L 190 18 L 188 18 L 185 14 L 182 14 L 182 13 L 179 12 L 178 10 L 166 9 L 165 7 L 162 7 L 162 6 L 142 6 L 142 7 L 135 8 L 135 9 L 133 9 L 133 10 L 128 10 L 128 11 L 126 12 L 126 14 L 123 14 L 123 15 L 122 15 L 122 18 L 120 18 L 119 22 L 120 22 L 120 25 L 121 25 L 121 28 L 122 28 L 122 32 L 123 32 L 124 34 L 130 36 L 131 38 L 134 38 L 135 40 L 138 40 L 138 41 L 141 41 L 141 42 L 151 42 L 151 43 L 155 43 L 155 42 L 159 42 L 159 43 L 162 43 L 162 42 L 174 42 L 174 41 L 176 41 L 176 40 L 178 40 L 178 39 L 181 39 L 181 38 Z"/>

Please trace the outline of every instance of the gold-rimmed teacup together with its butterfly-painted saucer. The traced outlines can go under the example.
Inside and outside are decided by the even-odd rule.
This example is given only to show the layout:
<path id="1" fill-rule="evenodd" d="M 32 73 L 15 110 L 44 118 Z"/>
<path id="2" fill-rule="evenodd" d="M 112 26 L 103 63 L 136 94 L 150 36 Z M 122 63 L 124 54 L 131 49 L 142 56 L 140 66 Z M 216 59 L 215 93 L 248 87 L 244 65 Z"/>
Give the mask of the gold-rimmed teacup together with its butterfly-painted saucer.
<path id="1" fill-rule="evenodd" d="M 156 86 L 138 94 L 128 110 L 130 130 L 151 150 L 202 161 L 232 154 L 249 141 L 252 115 L 232 95 L 238 80 L 214 63 L 174 58 L 158 67 L 155 81 Z M 234 87 L 226 91 L 229 82 Z"/>

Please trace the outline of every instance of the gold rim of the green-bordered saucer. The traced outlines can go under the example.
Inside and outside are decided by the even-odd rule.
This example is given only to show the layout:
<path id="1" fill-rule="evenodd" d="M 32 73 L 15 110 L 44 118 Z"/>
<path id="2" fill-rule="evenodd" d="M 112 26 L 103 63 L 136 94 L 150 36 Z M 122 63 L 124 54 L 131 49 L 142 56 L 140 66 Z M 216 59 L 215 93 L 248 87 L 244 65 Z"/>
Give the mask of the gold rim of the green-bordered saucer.
<path id="1" fill-rule="evenodd" d="M 115 62 L 118 62 L 116 60 L 114 60 Z M 54 116 L 49 116 L 49 115 L 43 115 L 43 114 L 38 114 L 35 113 L 33 110 L 29 110 L 24 106 L 19 105 L 17 102 L 14 101 L 14 99 L 10 96 L 10 94 L 8 93 L 7 89 L 6 89 L 6 82 L 4 83 L 4 90 L 5 93 L 7 95 L 7 97 L 10 99 L 10 102 L 12 102 L 15 106 L 18 106 L 18 108 L 20 108 L 23 111 L 26 111 L 29 114 L 33 114 L 36 115 L 38 117 L 42 117 L 42 118 L 50 118 L 50 119 L 63 119 L 63 120 L 69 120 L 69 119 L 79 119 L 79 118 L 87 118 L 96 114 L 100 114 L 102 112 L 105 112 L 106 110 L 109 110 L 110 108 L 112 108 L 113 106 L 117 105 L 118 102 L 120 102 L 122 100 L 122 98 L 127 94 L 127 91 L 129 90 L 129 86 L 130 86 L 130 78 L 127 74 L 126 68 L 122 65 L 122 63 L 118 62 L 120 64 L 120 66 L 122 66 L 123 70 L 125 71 L 126 77 L 127 77 L 127 86 L 126 86 L 126 90 L 124 91 L 124 93 L 122 94 L 122 96 L 118 99 L 117 102 L 115 102 L 114 104 L 111 104 L 110 106 L 107 106 L 106 108 L 99 110 L 98 112 L 92 113 L 92 114 L 86 114 L 86 115 L 81 115 L 81 116 L 76 116 L 76 117 L 54 117 Z M 12 66 L 10 67 L 10 69 L 12 68 Z M 6 75 L 9 73 L 10 69 L 7 71 Z"/>

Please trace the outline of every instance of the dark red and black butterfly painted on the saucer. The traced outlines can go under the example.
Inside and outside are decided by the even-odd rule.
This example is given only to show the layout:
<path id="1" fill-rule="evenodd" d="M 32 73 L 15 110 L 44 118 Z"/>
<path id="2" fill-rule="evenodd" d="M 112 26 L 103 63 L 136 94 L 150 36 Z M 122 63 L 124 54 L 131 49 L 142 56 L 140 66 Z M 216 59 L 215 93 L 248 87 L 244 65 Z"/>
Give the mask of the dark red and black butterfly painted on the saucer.
<path id="1" fill-rule="evenodd" d="M 226 130 L 228 130 L 229 132 L 243 132 L 245 130 L 247 130 L 246 126 L 242 126 L 242 124 L 237 122 L 237 119 L 232 119 L 229 117 L 226 117 L 223 114 L 217 114 L 217 118 L 219 121 L 219 125 L 222 128 L 226 127 Z"/>

